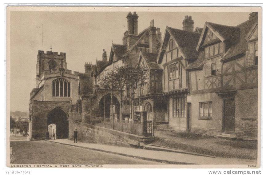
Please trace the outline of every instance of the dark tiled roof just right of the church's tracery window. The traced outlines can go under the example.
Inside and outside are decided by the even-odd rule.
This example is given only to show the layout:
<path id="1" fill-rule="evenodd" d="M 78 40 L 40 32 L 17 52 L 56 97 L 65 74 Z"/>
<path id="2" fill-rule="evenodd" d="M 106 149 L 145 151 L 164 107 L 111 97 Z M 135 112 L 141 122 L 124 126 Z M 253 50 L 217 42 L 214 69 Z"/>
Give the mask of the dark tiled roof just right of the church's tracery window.
<path id="1" fill-rule="evenodd" d="M 89 74 L 79 73 L 79 85 L 81 94 L 89 94 L 93 89 L 93 78 Z"/>

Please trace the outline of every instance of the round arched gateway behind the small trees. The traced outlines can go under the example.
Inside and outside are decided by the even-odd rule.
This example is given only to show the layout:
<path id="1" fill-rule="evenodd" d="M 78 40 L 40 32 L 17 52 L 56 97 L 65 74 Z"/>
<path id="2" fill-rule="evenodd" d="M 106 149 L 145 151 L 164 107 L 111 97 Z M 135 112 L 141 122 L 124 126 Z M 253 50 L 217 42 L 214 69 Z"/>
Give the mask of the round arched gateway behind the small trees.
<path id="1" fill-rule="evenodd" d="M 105 94 L 101 97 L 99 102 L 100 116 L 105 118 L 111 118 L 112 108 L 111 108 L 111 94 Z M 120 103 L 117 98 L 113 95 L 113 118 L 117 117 L 120 119 Z"/>

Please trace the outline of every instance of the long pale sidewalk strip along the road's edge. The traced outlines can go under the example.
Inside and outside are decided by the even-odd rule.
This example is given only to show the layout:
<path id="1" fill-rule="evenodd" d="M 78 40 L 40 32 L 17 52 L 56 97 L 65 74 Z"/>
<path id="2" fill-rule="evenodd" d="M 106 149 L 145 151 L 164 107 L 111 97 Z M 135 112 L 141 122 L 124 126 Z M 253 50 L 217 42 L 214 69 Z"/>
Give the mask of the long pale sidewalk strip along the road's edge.
<path id="1" fill-rule="evenodd" d="M 165 151 L 154 151 L 139 148 L 129 148 L 112 145 L 101 145 L 94 143 L 73 143 L 68 139 L 49 140 L 58 144 L 77 146 L 85 149 L 102 151 L 106 153 L 119 154 L 127 157 L 134 157 L 149 161 L 157 161 L 169 164 L 204 164 L 204 165 L 256 165 L 256 160 L 234 159 L 234 158 L 213 158 L 196 156 L 184 153 L 173 153 Z"/>

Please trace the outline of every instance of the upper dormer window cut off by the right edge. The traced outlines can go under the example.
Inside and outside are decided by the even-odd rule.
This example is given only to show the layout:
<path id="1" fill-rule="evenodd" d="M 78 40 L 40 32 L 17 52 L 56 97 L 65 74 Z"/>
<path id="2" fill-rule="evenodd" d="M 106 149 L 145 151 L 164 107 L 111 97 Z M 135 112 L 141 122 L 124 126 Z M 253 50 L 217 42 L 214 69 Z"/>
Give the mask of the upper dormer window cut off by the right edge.
<path id="1" fill-rule="evenodd" d="M 258 41 L 248 42 L 246 66 L 258 65 Z"/>

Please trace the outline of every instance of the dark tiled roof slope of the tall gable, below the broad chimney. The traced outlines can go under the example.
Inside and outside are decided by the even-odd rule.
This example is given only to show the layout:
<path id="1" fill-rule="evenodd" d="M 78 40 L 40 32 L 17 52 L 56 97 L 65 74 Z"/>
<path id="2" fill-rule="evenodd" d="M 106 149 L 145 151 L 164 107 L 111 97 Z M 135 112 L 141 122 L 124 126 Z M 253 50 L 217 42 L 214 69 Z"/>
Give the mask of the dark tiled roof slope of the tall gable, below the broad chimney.
<path id="1" fill-rule="evenodd" d="M 196 47 L 200 38 L 200 34 L 174 29 L 168 26 L 167 29 L 170 31 L 170 33 L 172 33 L 173 38 L 176 40 L 186 59 L 196 59 L 198 57 Z"/>

